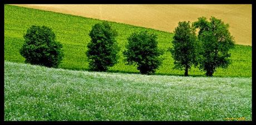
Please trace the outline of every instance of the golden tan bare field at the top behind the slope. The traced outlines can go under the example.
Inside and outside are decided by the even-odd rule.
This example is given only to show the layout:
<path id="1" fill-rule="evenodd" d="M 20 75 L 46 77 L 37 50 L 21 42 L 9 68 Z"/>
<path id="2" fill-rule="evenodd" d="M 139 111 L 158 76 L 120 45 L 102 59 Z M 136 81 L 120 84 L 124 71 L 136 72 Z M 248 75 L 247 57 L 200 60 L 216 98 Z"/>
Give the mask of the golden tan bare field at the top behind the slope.
<path id="1" fill-rule="evenodd" d="M 178 22 L 214 16 L 230 25 L 236 44 L 252 45 L 251 4 L 16 4 L 173 32 Z"/>

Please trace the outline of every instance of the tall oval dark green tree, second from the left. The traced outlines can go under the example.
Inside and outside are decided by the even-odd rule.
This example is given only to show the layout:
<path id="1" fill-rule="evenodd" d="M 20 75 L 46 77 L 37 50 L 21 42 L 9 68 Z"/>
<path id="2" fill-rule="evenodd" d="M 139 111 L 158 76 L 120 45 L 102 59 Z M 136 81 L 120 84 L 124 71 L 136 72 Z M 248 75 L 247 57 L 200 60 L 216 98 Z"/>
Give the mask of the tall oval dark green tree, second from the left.
<path id="1" fill-rule="evenodd" d="M 118 60 L 117 46 L 115 38 L 116 30 L 111 29 L 108 23 L 97 23 L 93 25 L 90 32 L 91 42 L 88 43 L 86 55 L 89 59 L 89 67 L 92 71 L 106 71 L 110 66 L 114 66 Z"/>

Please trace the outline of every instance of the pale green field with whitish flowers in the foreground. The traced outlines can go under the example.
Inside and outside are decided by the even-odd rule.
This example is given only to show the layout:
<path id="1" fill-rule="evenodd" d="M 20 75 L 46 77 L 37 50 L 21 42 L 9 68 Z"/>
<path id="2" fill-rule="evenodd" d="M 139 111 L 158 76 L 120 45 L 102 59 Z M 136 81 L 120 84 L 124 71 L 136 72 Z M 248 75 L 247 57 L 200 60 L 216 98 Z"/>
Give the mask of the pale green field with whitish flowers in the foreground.
<path id="1" fill-rule="evenodd" d="M 252 121 L 252 79 L 4 62 L 4 121 Z"/>

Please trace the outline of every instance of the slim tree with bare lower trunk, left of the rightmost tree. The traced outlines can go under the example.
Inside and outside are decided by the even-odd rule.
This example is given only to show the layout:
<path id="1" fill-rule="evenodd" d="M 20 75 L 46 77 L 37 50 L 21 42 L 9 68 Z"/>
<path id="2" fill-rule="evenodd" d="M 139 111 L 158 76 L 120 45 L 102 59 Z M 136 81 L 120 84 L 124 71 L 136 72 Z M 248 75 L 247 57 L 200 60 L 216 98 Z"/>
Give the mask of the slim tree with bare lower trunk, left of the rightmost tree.
<path id="1" fill-rule="evenodd" d="M 196 38 L 195 28 L 190 26 L 190 22 L 179 22 L 174 30 L 173 48 L 170 48 L 174 59 L 174 68 L 185 70 L 185 76 L 188 76 L 188 70 L 192 65 L 198 64 L 198 40 Z"/>

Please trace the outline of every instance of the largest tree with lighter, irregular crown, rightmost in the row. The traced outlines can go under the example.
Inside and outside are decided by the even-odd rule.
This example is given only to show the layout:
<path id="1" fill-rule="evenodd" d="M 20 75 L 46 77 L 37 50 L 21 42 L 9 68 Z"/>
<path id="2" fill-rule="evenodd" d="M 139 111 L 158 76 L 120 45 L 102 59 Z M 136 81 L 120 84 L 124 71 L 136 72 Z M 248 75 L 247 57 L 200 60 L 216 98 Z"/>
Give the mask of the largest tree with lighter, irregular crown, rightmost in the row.
<path id="1" fill-rule="evenodd" d="M 213 76 L 217 67 L 227 68 L 231 63 L 229 50 L 234 47 L 234 37 L 229 33 L 229 24 L 224 24 L 220 19 L 205 17 L 198 18 L 193 23 L 199 28 L 198 38 L 203 44 L 203 58 L 199 68 L 206 71 L 206 76 Z"/>

